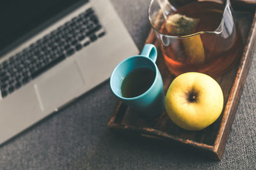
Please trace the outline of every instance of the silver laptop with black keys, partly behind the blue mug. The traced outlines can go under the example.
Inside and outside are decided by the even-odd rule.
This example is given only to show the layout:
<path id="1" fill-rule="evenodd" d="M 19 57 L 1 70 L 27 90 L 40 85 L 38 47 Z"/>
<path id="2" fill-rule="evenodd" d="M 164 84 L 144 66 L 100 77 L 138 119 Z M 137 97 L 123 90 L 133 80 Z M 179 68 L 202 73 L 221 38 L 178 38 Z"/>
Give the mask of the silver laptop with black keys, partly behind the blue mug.
<path id="1" fill-rule="evenodd" d="M 108 0 L 3 1 L 0 20 L 0 144 L 138 53 Z"/>

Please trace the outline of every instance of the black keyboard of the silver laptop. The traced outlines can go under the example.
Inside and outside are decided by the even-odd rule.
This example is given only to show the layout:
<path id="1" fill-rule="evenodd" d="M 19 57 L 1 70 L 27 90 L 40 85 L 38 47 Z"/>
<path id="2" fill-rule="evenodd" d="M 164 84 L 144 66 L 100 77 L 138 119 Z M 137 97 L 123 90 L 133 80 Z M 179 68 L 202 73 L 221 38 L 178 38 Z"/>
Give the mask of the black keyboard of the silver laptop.
<path id="1" fill-rule="evenodd" d="M 100 32 L 101 29 L 99 19 L 93 9 L 89 8 L 44 38 L 38 39 L 22 52 L 2 62 L 0 64 L 2 97 L 6 97 L 47 69 L 104 36 L 105 32 Z"/>

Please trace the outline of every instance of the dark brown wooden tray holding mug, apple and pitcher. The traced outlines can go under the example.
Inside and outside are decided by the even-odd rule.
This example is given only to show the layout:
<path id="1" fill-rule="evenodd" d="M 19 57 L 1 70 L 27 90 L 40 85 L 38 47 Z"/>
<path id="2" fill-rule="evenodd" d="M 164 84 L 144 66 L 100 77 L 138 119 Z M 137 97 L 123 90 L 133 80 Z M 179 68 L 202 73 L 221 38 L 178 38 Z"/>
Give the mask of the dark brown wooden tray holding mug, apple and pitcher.
<path id="1" fill-rule="evenodd" d="M 239 10 L 239 5 L 236 5 L 236 2 L 242 3 L 243 8 Z M 235 15 L 243 35 L 244 51 L 241 60 L 237 62 L 236 66 L 232 67 L 223 76 L 216 78 L 224 95 L 224 108 L 220 118 L 202 131 L 191 132 L 180 129 L 173 124 L 165 111 L 158 118 L 143 118 L 120 102 L 109 120 L 109 129 L 123 134 L 126 132 L 126 134 L 137 134 L 146 138 L 162 139 L 168 142 L 174 141 L 183 144 L 182 146 L 192 146 L 214 159 L 221 159 L 256 46 L 255 8 L 250 11 L 242 11 L 247 4 L 246 1 L 236 0 L 232 1 L 232 3 L 236 7 Z M 249 6 L 252 7 L 251 3 L 252 1 L 250 1 Z M 152 43 L 157 46 L 153 31 L 150 31 L 146 43 Z M 164 90 L 166 92 L 174 77 L 164 65 L 160 50 L 157 66 L 163 77 Z"/>

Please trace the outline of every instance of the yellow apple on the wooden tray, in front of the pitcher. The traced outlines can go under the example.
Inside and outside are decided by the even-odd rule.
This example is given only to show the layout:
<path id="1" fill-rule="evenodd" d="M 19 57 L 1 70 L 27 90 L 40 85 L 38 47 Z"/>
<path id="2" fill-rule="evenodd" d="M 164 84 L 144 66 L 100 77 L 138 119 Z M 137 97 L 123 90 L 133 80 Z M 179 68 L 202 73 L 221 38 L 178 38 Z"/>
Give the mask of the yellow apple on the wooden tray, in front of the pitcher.
<path id="1" fill-rule="evenodd" d="M 165 108 L 179 127 L 199 131 L 220 117 L 223 92 L 220 85 L 206 74 L 180 74 L 166 93 Z"/>

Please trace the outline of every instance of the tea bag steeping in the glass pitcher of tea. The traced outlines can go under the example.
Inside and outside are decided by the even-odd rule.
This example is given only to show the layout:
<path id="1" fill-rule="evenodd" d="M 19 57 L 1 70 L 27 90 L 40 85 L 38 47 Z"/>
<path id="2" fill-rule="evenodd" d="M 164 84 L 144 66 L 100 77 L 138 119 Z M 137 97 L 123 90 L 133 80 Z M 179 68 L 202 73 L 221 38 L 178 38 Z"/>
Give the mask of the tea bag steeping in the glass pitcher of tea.
<path id="1" fill-rule="evenodd" d="M 172 32 L 172 34 L 185 36 L 193 33 L 198 22 L 198 19 L 189 18 L 185 15 L 176 13 L 168 16 L 164 27 L 168 32 Z M 205 55 L 204 46 L 200 35 L 191 36 L 181 40 L 184 45 L 186 55 L 188 56 L 188 62 L 191 64 L 203 64 Z"/>

